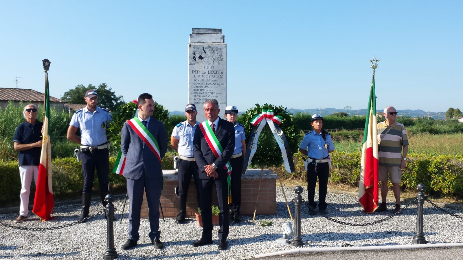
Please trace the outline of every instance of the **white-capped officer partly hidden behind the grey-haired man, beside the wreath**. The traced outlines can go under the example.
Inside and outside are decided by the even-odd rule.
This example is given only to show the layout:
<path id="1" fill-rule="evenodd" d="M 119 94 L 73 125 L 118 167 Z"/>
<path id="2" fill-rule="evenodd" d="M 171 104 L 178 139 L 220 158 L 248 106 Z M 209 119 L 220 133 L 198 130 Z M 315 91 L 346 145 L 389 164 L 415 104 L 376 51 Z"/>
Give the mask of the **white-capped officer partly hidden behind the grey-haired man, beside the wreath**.
<path id="1" fill-rule="evenodd" d="M 244 134 L 244 125 L 236 123 L 238 117 L 238 108 L 234 105 L 225 107 L 225 119 L 235 125 L 235 150 L 233 151 L 230 164 L 232 165 L 232 210 L 230 219 L 235 223 L 240 223 L 239 209 L 241 206 L 241 169 L 243 168 L 244 155 L 246 154 L 246 136 Z"/>

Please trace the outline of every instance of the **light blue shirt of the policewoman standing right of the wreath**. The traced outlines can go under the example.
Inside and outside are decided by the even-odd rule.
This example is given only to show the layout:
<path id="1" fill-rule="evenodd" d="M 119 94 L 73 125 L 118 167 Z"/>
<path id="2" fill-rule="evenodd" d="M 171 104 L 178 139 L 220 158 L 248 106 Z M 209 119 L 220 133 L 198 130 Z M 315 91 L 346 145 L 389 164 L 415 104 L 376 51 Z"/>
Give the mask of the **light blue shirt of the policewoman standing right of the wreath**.
<path id="1" fill-rule="evenodd" d="M 320 134 L 317 134 L 314 130 L 308 132 L 302 142 L 300 142 L 300 149 L 307 150 L 307 156 L 312 159 L 323 159 L 328 157 L 328 151 L 334 150 L 334 143 L 331 139 L 331 135 L 327 133 L 325 135 L 326 141 Z M 325 145 L 328 148 L 325 148 Z"/>

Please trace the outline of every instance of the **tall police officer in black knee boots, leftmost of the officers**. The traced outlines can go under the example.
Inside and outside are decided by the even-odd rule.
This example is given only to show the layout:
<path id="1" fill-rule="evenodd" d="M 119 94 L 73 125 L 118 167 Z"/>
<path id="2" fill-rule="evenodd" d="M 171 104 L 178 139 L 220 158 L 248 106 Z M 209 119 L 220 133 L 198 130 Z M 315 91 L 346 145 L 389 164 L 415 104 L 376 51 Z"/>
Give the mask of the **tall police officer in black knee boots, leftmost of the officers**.
<path id="1" fill-rule="evenodd" d="M 69 123 L 67 138 L 81 145 L 82 175 L 82 210 L 79 220 L 88 217 L 88 208 L 92 199 L 92 188 L 95 168 L 100 183 L 100 195 L 103 206 L 105 197 L 109 194 L 109 150 L 106 127 L 113 120 L 106 109 L 97 106 L 98 93 L 93 89 L 85 93 L 87 106 L 75 112 Z M 77 129 L 81 129 L 81 137 L 76 136 Z"/>

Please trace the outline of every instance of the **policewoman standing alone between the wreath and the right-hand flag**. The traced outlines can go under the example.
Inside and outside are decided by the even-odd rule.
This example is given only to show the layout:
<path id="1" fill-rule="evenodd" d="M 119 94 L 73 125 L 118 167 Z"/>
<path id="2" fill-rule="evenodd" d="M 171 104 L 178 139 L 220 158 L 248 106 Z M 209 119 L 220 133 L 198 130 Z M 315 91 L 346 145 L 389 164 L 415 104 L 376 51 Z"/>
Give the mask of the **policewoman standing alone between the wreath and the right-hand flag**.
<path id="1" fill-rule="evenodd" d="M 319 178 L 319 212 L 326 214 L 326 189 L 328 186 L 328 154 L 334 151 L 334 144 L 330 134 L 323 130 L 323 118 L 320 114 L 314 114 L 310 121 L 313 131 L 308 132 L 299 146 L 299 151 L 307 155 L 307 196 L 309 205 L 309 215 L 315 215 L 317 204 L 315 198 L 315 184 Z"/>

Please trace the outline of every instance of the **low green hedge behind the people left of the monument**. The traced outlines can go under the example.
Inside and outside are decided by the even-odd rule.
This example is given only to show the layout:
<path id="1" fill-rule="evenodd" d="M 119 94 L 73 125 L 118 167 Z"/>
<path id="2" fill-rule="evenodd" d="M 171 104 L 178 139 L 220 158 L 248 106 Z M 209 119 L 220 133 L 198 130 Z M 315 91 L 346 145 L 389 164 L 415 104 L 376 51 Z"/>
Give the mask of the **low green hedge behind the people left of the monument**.
<path id="1" fill-rule="evenodd" d="M 162 161 L 163 169 L 173 169 L 173 153 L 167 153 Z M 125 178 L 122 175 L 112 173 L 116 157 L 109 158 L 109 182 L 112 189 L 125 190 Z M 55 199 L 79 197 L 82 191 L 82 167 L 81 163 L 73 157 L 56 158 L 52 164 L 53 195 Z M 19 192 L 21 180 L 19 180 L 18 161 L 0 161 L 0 204 L 19 205 Z M 98 175 L 95 174 L 94 191 L 98 190 Z M 32 181 L 30 201 L 33 201 L 35 185 Z"/>

